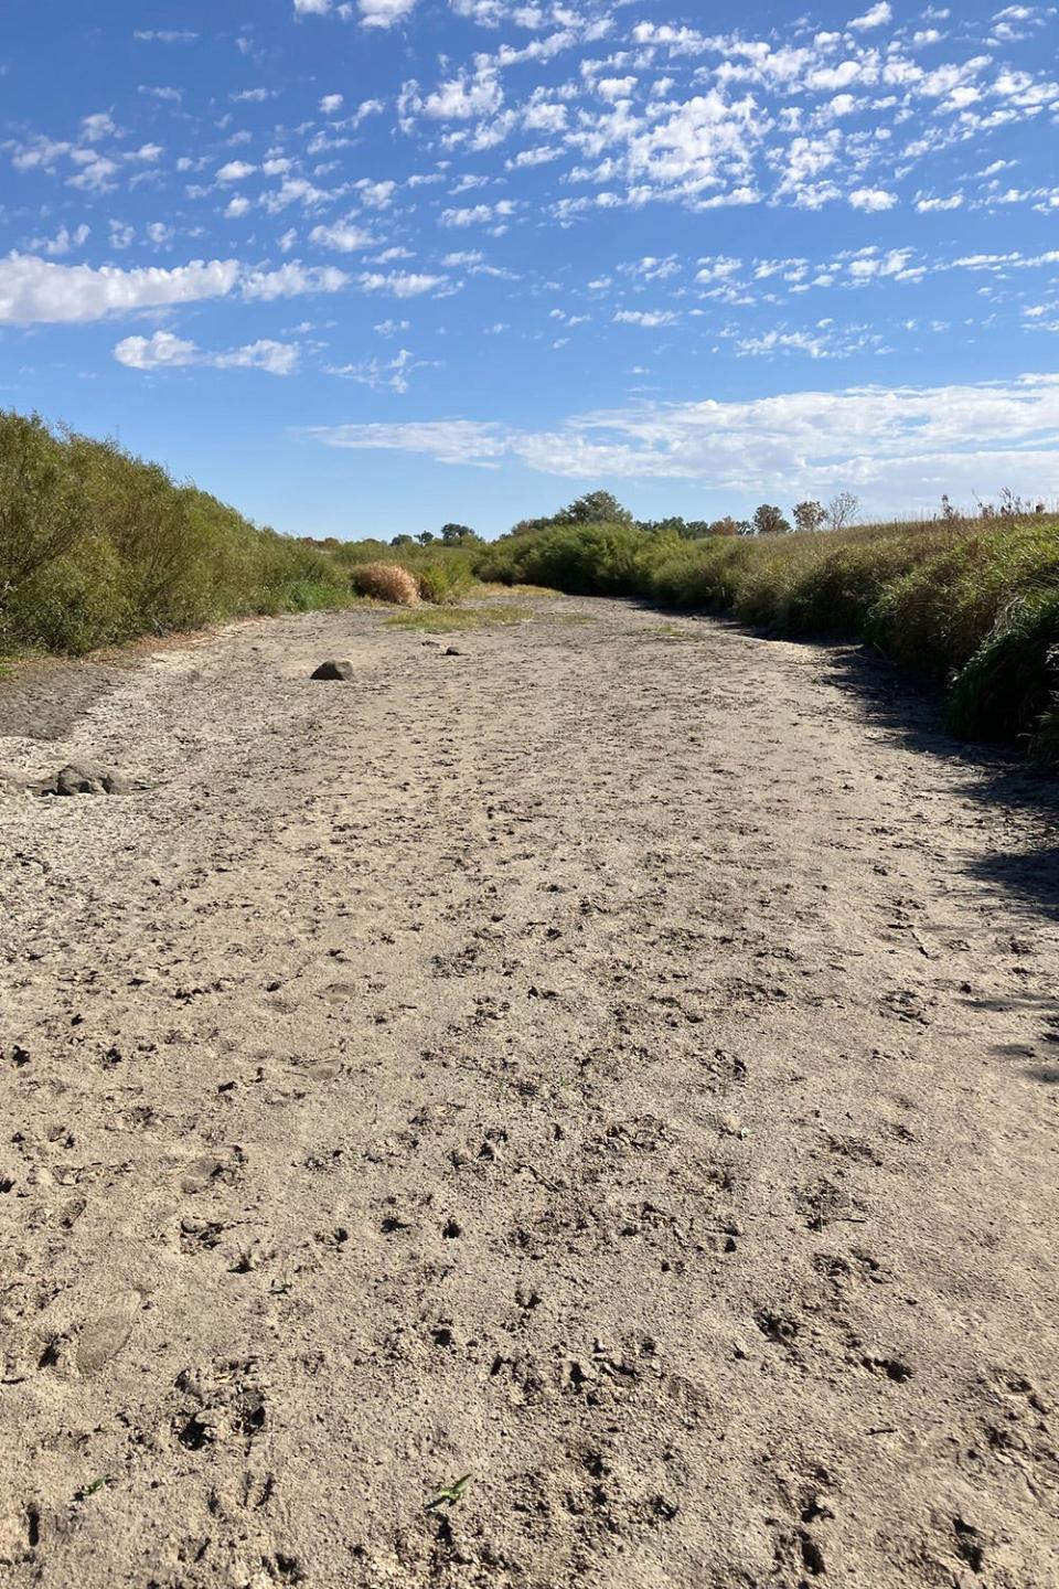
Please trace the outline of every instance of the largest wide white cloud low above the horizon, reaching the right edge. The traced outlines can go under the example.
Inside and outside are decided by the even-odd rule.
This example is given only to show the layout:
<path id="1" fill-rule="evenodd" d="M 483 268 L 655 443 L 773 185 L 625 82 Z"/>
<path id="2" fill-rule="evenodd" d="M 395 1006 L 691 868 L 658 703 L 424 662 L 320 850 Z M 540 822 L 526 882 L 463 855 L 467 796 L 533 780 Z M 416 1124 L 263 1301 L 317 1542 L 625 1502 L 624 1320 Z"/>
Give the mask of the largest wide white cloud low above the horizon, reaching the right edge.
<path id="1" fill-rule="evenodd" d="M 703 480 L 740 496 L 851 488 L 880 507 L 1005 480 L 1059 489 L 1059 375 L 953 386 L 854 386 L 746 402 L 643 404 L 556 431 L 472 419 L 319 426 L 327 447 L 446 464 L 522 464 L 575 480 Z"/>

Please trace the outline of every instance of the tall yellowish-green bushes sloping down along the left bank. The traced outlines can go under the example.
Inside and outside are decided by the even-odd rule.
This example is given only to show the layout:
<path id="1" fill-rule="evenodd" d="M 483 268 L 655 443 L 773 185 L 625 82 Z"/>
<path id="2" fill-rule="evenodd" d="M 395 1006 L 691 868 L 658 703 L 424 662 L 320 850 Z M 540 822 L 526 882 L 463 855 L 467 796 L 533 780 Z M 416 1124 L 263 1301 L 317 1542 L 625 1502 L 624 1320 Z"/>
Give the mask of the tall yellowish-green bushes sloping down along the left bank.
<path id="1" fill-rule="evenodd" d="M 0 412 L 0 653 L 83 653 L 349 599 L 325 551 L 113 442 Z"/>

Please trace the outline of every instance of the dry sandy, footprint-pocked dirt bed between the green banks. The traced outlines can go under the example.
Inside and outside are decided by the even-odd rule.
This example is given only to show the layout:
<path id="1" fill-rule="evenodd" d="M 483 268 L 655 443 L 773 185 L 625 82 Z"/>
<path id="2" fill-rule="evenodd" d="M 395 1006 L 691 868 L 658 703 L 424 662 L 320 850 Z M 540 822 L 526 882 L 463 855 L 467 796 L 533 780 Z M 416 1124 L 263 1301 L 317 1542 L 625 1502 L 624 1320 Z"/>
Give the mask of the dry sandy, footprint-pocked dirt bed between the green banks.
<path id="1" fill-rule="evenodd" d="M 856 653 L 452 644 L 0 685 L 146 783 L 0 799 L 0 1583 L 1059 1584 L 1048 785 Z"/>

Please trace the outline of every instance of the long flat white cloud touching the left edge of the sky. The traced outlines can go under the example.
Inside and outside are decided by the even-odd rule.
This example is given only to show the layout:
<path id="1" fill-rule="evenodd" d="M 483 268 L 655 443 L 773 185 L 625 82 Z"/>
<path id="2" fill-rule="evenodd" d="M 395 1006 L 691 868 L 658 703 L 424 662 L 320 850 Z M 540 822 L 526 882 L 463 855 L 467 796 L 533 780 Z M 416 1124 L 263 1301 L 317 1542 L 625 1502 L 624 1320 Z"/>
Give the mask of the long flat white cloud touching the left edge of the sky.
<path id="1" fill-rule="evenodd" d="M 35 254 L 0 259 L 0 324 L 60 324 L 103 319 L 143 308 L 168 308 L 225 297 L 238 283 L 235 259 L 195 259 L 175 270 L 156 265 L 56 265 Z"/>

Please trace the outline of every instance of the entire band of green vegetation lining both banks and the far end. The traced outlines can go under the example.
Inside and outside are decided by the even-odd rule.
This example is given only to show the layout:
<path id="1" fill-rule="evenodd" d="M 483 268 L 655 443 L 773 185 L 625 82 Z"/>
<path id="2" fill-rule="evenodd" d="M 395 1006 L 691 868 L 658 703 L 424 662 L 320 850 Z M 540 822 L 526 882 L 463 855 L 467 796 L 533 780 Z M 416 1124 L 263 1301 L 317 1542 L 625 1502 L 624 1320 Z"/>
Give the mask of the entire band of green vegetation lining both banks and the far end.
<path id="1" fill-rule="evenodd" d="M 637 523 L 592 491 L 492 543 L 457 523 L 389 542 L 295 540 L 114 442 L 0 412 L 0 656 L 84 653 L 359 593 L 429 602 L 389 620 L 429 634 L 535 617 L 497 588 L 638 596 L 773 634 L 864 639 L 942 683 L 957 733 L 1018 740 L 1059 766 L 1059 518 L 1011 493 L 978 518 L 948 497 L 922 523 L 854 528 L 856 515 L 838 493 L 799 502 L 795 531 L 770 504 L 753 521 Z M 468 594 L 492 602 L 457 605 Z"/>

